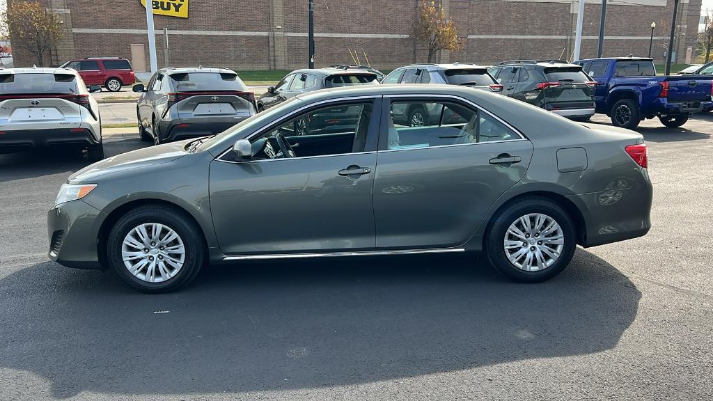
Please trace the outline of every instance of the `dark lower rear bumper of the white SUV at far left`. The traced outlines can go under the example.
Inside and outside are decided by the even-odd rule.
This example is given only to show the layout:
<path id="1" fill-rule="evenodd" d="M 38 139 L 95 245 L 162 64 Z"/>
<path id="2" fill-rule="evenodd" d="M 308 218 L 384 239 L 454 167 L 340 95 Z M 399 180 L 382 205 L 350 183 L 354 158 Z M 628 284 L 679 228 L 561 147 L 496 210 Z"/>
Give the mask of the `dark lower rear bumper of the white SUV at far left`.
<path id="1" fill-rule="evenodd" d="M 0 151 L 22 151 L 51 146 L 98 146 L 101 137 L 91 128 L 0 130 Z"/>

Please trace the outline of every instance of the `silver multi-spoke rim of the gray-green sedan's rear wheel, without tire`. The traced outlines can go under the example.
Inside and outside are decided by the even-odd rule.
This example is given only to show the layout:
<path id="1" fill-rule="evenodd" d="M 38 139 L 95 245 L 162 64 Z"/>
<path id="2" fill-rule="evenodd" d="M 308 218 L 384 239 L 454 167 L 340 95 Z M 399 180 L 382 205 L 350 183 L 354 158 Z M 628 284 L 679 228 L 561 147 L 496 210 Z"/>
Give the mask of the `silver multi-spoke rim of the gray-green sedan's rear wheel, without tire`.
<path id="1" fill-rule="evenodd" d="M 524 271 L 549 268 L 560 258 L 564 245 L 562 228 L 543 213 L 520 216 L 508 227 L 503 240 L 510 263 Z"/>

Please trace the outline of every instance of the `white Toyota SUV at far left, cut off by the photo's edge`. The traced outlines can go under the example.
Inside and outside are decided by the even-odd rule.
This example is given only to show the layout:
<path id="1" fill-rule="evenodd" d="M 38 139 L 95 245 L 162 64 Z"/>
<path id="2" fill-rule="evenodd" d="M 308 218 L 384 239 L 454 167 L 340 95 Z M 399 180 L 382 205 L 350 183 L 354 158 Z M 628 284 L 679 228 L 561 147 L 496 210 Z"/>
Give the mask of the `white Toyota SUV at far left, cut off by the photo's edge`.
<path id="1" fill-rule="evenodd" d="M 0 68 L 0 153 L 71 146 L 104 158 L 99 105 L 71 68 Z"/>

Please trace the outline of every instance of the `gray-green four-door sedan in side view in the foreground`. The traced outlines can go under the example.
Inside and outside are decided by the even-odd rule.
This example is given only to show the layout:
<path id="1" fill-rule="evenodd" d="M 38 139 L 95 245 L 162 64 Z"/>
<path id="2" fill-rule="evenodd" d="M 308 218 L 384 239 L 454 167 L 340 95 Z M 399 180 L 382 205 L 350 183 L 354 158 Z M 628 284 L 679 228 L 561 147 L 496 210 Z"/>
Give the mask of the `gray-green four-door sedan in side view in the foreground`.
<path id="1" fill-rule="evenodd" d="M 414 103 L 438 118 L 394 122 Z M 329 129 L 296 135 L 304 118 Z M 470 251 L 540 282 L 576 245 L 645 235 L 651 201 L 638 133 L 471 88 L 339 88 L 78 171 L 49 210 L 49 256 L 145 292 L 205 263 Z"/>

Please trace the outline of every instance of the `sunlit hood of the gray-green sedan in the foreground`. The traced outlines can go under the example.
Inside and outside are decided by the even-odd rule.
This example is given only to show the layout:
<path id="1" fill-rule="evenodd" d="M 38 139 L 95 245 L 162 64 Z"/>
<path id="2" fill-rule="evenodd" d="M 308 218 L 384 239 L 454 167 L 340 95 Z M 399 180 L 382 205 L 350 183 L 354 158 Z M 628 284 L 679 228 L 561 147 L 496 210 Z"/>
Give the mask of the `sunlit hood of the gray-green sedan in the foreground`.
<path id="1" fill-rule="evenodd" d="M 105 158 L 103 161 L 98 161 L 90 166 L 86 166 L 72 174 L 68 178 L 68 181 L 71 183 L 83 183 L 111 173 L 168 163 L 169 161 L 188 154 L 188 152 L 185 151 L 185 144 L 187 142 L 190 141 L 150 146 L 148 148 L 138 149 L 137 151 L 121 153 L 111 158 Z"/>

